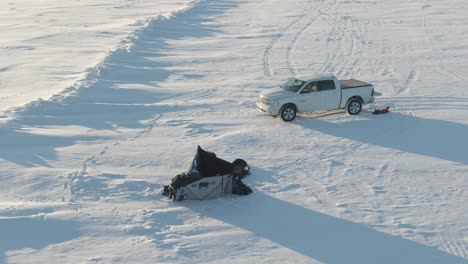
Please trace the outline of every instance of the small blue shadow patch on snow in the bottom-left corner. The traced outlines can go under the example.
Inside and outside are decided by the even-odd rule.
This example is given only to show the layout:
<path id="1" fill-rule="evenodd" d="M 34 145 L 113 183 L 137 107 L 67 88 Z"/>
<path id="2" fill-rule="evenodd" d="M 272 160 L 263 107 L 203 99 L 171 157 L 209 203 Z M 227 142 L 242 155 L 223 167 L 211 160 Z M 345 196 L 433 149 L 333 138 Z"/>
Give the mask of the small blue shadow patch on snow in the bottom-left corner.
<path id="1" fill-rule="evenodd" d="M 0 264 L 6 263 L 5 252 L 22 248 L 42 249 L 78 237 L 74 221 L 38 218 L 0 219 Z"/>

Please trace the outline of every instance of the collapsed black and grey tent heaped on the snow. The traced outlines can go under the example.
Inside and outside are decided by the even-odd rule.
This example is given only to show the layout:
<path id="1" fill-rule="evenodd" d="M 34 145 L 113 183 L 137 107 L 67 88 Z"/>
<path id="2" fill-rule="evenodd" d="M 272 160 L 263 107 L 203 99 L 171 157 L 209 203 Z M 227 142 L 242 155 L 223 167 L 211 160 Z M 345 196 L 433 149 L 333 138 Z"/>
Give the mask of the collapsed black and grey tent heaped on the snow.
<path id="1" fill-rule="evenodd" d="M 244 160 L 231 163 L 198 146 L 188 172 L 177 175 L 170 185 L 164 186 L 163 195 L 173 201 L 205 200 L 223 193 L 247 195 L 252 190 L 241 179 L 249 174 L 250 168 Z"/>

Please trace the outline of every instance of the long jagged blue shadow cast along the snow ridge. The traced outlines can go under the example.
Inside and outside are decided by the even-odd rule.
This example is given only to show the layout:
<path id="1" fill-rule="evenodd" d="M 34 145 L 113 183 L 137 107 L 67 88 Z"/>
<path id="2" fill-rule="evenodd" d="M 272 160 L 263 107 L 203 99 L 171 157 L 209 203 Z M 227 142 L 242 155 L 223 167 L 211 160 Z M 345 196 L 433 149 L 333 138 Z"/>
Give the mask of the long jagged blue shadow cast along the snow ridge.
<path id="1" fill-rule="evenodd" d="M 38 135 L 25 128 L 50 126 L 79 126 L 90 130 L 116 130 L 119 127 L 145 129 L 141 120 L 155 115 L 179 111 L 187 106 L 161 106 L 155 103 L 177 96 L 177 92 L 162 90 L 158 83 L 173 74 L 184 78 L 200 78 L 193 73 L 178 72 L 164 61 L 172 47 L 169 42 L 184 38 L 210 37 L 220 32 L 214 23 L 236 5 L 230 1 L 201 1 L 193 8 L 175 14 L 171 19 L 160 18 L 137 34 L 130 52 L 118 50 L 99 67 L 97 79 L 79 89 L 68 89 L 68 96 L 54 96 L 19 109 L 11 122 L 0 125 L 2 134 L 0 158 L 25 167 L 49 166 L 47 160 L 57 158 L 55 149 L 78 141 L 107 139 L 89 137 Z M 144 86 L 145 88 L 141 88 Z M 194 92 L 199 90 L 194 87 Z"/>

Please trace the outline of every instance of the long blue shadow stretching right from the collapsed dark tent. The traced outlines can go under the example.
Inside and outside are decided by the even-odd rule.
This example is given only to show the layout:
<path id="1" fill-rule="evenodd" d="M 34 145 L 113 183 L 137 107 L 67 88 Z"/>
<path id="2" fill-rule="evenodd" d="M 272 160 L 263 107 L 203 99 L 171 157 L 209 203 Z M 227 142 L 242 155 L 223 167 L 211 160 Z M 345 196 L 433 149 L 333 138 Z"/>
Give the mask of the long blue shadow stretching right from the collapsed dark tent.
<path id="1" fill-rule="evenodd" d="M 235 201 L 234 201 L 235 200 Z M 466 263 L 466 260 L 366 225 L 318 213 L 261 192 L 185 206 L 324 263 Z"/>

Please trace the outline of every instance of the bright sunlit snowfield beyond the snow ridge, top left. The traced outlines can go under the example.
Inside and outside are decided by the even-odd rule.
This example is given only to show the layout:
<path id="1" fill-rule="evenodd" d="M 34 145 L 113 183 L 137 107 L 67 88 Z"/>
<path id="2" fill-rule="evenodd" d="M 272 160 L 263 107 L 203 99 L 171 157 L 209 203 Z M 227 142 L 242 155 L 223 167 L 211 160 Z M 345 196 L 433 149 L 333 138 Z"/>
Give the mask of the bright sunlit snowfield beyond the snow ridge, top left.
<path id="1" fill-rule="evenodd" d="M 0 3 L 0 111 L 73 86 L 131 34 L 189 0 Z"/>

